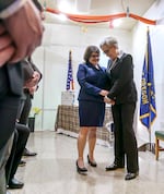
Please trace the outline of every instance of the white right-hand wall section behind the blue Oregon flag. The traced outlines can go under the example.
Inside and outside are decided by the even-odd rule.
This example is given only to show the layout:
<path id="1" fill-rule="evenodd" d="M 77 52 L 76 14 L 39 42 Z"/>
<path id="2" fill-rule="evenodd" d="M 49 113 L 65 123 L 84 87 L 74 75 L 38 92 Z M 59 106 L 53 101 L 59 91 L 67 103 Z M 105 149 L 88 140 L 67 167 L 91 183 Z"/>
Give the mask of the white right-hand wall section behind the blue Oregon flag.
<path id="1" fill-rule="evenodd" d="M 156 20 L 164 17 L 164 1 L 156 1 L 154 5 L 144 14 L 144 17 Z M 147 25 L 139 23 L 133 29 L 132 52 L 136 64 L 134 77 L 138 87 L 138 110 L 140 106 L 141 92 L 141 72 L 143 66 L 143 58 L 147 41 Z M 152 45 L 152 56 L 154 64 L 154 82 L 156 93 L 156 110 L 157 118 L 151 129 L 151 140 L 154 142 L 154 131 L 164 130 L 163 119 L 163 96 L 164 96 L 164 25 L 150 26 L 150 37 Z M 149 142 L 149 133 L 138 120 L 138 135 L 140 138 Z"/>

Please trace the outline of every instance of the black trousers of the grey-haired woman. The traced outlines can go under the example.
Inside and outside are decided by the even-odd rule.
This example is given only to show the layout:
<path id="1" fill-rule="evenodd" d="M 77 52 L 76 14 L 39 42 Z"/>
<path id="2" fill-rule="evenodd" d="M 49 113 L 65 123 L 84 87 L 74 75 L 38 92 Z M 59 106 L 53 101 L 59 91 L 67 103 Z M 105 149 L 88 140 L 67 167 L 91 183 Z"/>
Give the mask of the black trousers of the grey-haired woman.
<path id="1" fill-rule="evenodd" d="M 112 107 L 115 124 L 115 162 L 124 166 L 126 156 L 128 172 L 139 170 L 138 147 L 133 131 L 134 110 L 136 102 Z"/>

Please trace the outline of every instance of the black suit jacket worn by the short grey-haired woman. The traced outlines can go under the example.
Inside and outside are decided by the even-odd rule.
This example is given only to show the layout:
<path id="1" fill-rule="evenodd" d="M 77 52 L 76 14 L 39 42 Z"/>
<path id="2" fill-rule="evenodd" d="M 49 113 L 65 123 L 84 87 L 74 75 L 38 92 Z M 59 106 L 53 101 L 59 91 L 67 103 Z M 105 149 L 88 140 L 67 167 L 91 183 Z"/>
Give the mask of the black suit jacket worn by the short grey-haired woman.
<path id="1" fill-rule="evenodd" d="M 109 69 L 109 66 L 108 66 Z M 108 71 L 110 89 L 108 97 L 116 104 L 137 101 L 137 89 L 133 82 L 133 62 L 130 54 L 124 53 Z"/>

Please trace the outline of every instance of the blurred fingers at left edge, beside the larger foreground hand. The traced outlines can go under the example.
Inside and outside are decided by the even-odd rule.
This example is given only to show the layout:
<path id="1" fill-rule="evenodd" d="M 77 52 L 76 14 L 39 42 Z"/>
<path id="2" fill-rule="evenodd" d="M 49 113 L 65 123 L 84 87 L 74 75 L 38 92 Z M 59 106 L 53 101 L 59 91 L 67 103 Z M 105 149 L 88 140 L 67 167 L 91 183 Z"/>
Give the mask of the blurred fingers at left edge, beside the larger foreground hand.
<path id="1" fill-rule="evenodd" d="M 0 66 L 5 64 L 13 56 L 15 48 L 5 27 L 0 23 Z"/>

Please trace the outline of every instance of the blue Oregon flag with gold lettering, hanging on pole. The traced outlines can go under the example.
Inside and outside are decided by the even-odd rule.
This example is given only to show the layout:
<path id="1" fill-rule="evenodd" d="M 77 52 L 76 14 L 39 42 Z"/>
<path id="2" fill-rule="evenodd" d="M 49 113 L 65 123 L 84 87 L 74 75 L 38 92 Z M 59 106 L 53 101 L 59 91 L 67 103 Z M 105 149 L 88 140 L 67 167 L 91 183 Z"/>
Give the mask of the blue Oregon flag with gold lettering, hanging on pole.
<path id="1" fill-rule="evenodd" d="M 155 106 L 155 86 L 154 71 L 151 49 L 151 39 L 148 31 L 147 50 L 143 62 L 142 80 L 141 80 L 141 100 L 140 100 L 140 121 L 151 129 L 153 121 L 156 118 Z"/>

